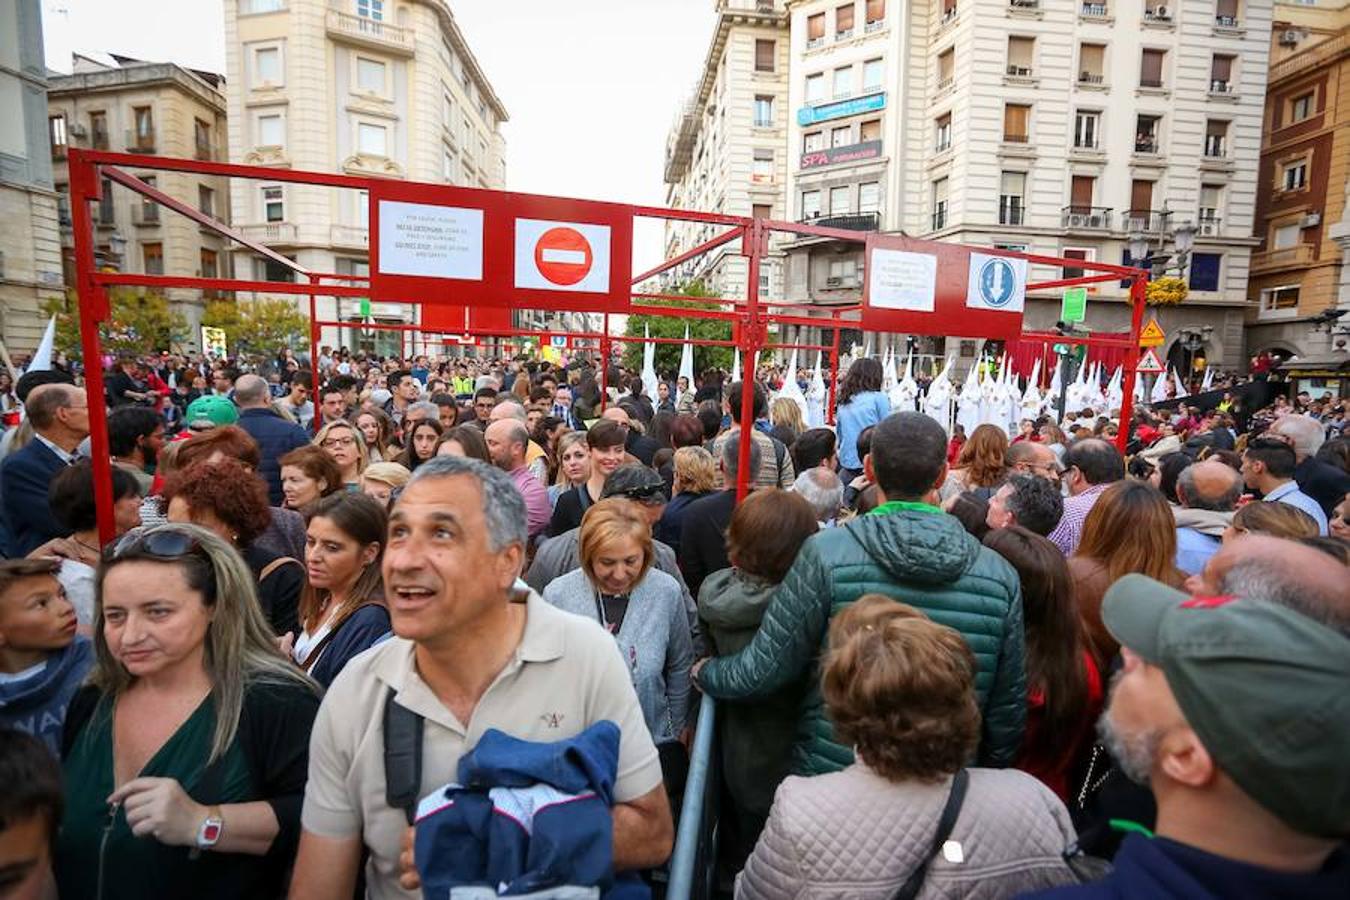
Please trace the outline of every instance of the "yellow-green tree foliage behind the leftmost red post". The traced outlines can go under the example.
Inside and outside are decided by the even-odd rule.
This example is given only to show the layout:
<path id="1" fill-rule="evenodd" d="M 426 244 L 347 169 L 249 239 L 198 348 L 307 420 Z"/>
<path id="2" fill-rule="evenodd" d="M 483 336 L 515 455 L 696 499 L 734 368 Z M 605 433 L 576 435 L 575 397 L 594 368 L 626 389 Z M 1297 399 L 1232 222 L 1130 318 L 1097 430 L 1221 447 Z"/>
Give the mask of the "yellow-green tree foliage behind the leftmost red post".
<path id="1" fill-rule="evenodd" d="M 178 349 L 189 339 L 188 320 L 169 308 L 163 294 L 135 287 L 108 290 L 109 318 L 103 327 L 103 349 L 107 354 L 150 354 Z M 80 359 L 80 300 L 66 291 L 65 300 L 49 300 L 43 316 L 57 317 L 55 351 Z"/>

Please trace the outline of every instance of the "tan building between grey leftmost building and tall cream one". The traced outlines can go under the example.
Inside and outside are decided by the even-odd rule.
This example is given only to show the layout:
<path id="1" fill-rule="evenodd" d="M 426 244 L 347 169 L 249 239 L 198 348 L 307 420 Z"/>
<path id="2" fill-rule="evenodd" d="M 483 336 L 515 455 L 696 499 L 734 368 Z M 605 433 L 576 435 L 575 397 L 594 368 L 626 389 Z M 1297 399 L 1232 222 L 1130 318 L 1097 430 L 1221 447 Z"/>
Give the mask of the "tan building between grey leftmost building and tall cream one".
<path id="1" fill-rule="evenodd" d="M 53 76 L 47 92 L 47 131 L 53 177 L 61 194 L 61 242 L 66 283 L 74 285 L 70 227 L 70 147 L 154 154 L 220 162 L 225 148 L 223 78 L 169 62 L 112 57 L 105 65 L 73 58 L 69 76 Z M 130 174 L 225 221 L 228 182 L 215 175 L 130 169 Z M 103 266 L 150 275 L 228 277 L 228 240 L 104 179 L 93 213 L 94 246 Z M 215 294 L 182 287 L 166 291 L 170 308 L 200 340 L 201 314 Z"/>

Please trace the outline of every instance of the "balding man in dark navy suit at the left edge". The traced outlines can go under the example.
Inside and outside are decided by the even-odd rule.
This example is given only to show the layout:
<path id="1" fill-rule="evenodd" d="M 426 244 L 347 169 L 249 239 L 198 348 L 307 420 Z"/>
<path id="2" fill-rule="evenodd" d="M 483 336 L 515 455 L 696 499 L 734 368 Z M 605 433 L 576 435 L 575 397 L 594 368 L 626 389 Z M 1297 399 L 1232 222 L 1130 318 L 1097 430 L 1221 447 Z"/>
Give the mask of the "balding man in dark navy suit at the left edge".
<path id="1" fill-rule="evenodd" d="M 89 402 L 72 385 L 43 385 L 24 403 L 32 440 L 0 466 L 0 497 L 9 530 L 9 556 L 27 556 L 69 532 L 57 524 L 47 487 L 74 461 L 76 448 L 89 436 Z"/>

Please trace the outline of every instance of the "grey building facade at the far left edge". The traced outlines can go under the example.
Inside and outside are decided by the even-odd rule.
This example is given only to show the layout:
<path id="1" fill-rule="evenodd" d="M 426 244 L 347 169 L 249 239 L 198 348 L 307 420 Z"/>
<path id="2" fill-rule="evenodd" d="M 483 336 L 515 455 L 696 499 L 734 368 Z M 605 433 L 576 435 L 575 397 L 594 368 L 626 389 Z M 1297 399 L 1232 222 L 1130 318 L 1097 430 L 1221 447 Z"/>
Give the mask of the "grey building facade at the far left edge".
<path id="1" fill-rule="evenodd" d="M 42 46 L 39 0 L 0 0 L 0 341 L 15 358 L 42 339 L 42 305 L 65 297 Z"/>

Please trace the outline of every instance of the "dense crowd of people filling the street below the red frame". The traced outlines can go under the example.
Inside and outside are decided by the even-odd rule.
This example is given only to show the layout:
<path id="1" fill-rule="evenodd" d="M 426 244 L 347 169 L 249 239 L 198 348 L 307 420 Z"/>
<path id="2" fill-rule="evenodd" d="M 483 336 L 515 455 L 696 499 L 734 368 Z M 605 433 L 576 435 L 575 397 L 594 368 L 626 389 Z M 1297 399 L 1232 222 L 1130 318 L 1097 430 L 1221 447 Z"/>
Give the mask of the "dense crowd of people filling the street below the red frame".
<path id="1" fill-rule="evenodd" d="M 1345 401 L 1122 453 L 879 368 L 809 428 L 772 366 L 127 356 L 107 542 L 19 378 L 0 896 L 645 896 L 699 695 L 740 897 L 1350 896 Z"/>

